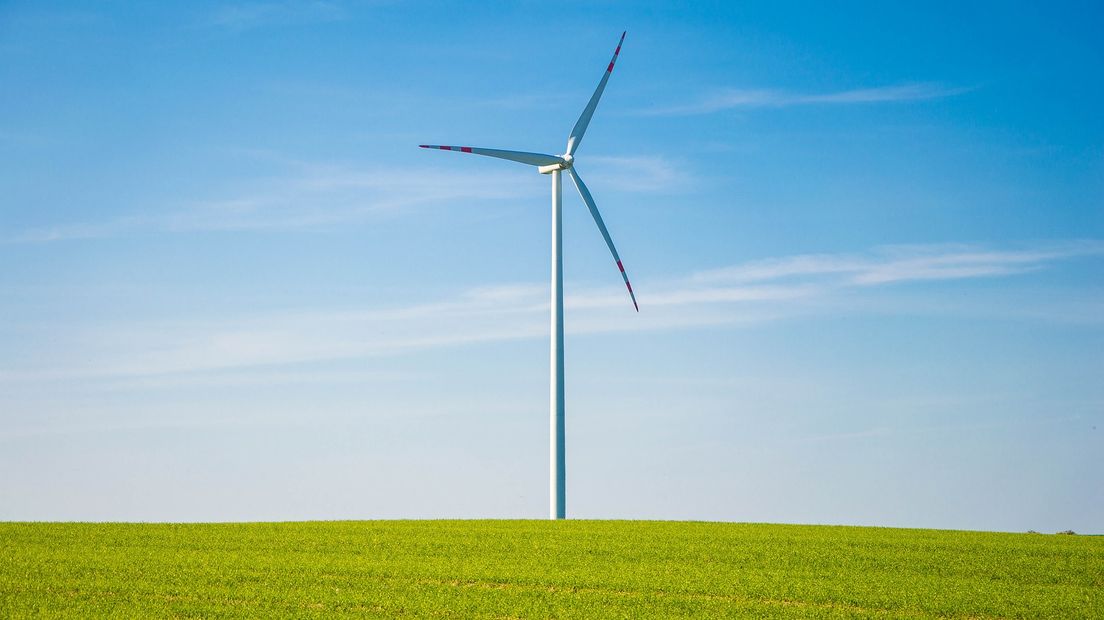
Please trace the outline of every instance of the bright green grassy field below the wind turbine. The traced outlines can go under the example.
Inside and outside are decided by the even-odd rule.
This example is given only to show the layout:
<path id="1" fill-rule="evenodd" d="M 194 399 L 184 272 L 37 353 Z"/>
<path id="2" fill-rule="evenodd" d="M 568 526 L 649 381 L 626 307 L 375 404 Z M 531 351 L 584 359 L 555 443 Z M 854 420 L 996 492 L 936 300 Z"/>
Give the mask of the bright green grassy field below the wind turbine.
<path id="1" fill-rule="evenodd" d="M 1104 618 L 1104 537 L 728 523 L 0 523 L 0 617 Z"/>

